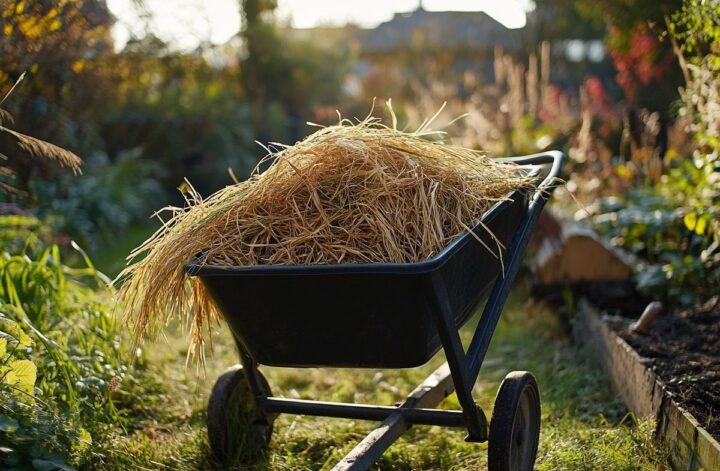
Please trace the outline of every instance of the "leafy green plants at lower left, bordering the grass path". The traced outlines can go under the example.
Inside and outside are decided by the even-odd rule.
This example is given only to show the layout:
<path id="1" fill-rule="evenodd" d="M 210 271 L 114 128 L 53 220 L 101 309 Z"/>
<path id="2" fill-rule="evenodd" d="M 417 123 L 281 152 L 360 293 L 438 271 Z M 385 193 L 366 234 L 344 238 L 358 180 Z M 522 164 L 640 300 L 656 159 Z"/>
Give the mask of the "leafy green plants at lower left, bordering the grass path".
<path id="1" fill-rule="evenodd" d="M 107 280 L 75 247 L 83 267 L 64 265 L 56 245 L 0 255 L 0 463 L 10 469 L 69 469 L 122 421 L 111 394 L 130 379 L 127 352 L 96 291 Z"/>

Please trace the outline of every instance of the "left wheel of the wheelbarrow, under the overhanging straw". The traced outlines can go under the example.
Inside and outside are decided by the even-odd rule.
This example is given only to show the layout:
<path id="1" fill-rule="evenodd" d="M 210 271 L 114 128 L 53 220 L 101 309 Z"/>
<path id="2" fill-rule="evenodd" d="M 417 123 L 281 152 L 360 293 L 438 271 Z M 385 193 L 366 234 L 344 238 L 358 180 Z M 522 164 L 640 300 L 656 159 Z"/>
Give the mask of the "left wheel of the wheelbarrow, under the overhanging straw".
<path id="1" fill-rule="evenodd" d="M 267 380 L 258 374 L 271 395 Z M 233 366 L 215 382 L 207 412 L 210 450 L 220 463 L 252 461 L 270 444 L 276 415 L 258 409 L 241 365 Z"/>

